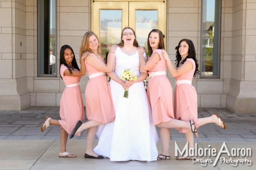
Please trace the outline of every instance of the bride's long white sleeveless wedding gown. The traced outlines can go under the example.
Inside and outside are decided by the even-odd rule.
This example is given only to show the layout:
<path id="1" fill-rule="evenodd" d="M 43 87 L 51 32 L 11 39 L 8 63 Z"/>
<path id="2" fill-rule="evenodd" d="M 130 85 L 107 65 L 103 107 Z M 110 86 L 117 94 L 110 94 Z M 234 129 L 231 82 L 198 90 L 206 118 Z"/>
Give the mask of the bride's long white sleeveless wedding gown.
<path id="1" fill-rule="evenodd" d="M 137 76 L 140 74 L 138 51 L 134 55 L 127 55 L 118 47 L 115 56 L 115 73 L 118 77 L 127 68 Z M 128 98 L 123 97 L 124 89 L 112 79 L 110 87 L 116 120 L 97 128 L 99 143 L 94 151 L 109 157 L 111 161 L 156 160 L 159 138 L 156 127 L 152 125 L 151 109 L 143 82 L 134 83 L 129 88 Z"/>

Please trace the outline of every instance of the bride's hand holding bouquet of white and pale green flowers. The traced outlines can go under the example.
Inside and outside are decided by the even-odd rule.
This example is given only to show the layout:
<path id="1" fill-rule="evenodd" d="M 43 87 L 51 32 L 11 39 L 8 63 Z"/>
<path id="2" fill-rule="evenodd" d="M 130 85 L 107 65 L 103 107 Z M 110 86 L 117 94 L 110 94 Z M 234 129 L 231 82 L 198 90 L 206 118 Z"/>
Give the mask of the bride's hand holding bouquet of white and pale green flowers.
<path id="1" fill-rule="evenodd" d="M 128 98 L 129 87 L 131 87 L 131 85 L 134 83 L 133 81 L 137 79 L 136 73 L 130 69 L 127 69 L 122 71 L 120 78 L 125 80 L 127 88 L 125 89 L 124 97 Z"/>

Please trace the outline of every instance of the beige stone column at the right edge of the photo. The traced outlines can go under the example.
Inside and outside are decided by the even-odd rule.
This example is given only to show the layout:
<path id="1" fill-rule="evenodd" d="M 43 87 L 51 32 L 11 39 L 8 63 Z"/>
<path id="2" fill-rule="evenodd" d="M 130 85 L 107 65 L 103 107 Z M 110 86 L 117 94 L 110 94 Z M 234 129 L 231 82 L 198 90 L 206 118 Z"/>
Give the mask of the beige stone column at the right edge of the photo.
<path id="1" fill-rule="evenodd" d="M 231 82 L 227 108 L 256 113 L 256 2 L 233 1 Z M 224 48 L 229 48 L 226 45 Z"/>

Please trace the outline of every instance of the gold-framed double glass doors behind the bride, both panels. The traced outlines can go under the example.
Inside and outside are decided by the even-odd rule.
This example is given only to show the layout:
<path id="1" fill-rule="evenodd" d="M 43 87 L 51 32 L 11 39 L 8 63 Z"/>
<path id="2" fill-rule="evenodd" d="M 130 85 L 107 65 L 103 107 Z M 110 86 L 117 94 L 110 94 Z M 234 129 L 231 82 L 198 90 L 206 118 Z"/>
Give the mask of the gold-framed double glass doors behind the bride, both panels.
<path id="1" fill-rule="evenodd" d="M 163 0 L 93 0 L 91 7 L 91 30 L 99 36 L 102 56 L 106 56 L 112 44 L 120 42 L 124 27 L 133 28 L 139 45 L 146 48 L 148 33 L 152 29 L 166 34 L 166 2 Z"/>

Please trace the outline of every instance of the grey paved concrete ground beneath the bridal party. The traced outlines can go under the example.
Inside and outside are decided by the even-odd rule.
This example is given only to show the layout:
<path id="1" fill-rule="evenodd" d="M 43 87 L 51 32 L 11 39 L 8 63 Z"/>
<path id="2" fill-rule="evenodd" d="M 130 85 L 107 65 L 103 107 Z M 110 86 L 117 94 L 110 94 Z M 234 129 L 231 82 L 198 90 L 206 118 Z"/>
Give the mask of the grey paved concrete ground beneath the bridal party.
<path id="1" fill-rule="evenodd" d="M 233 153 L 235 150 L 237 151 L 237 148 L 251 148 L 251 156 L 235 157 L 233 154 L 229 157 L 224 153 L 220 157 L 225 158 L 227 162 L 223 163 L 222 161 L 221 163 L 218 159 L 216 166 L 213 166 L 216 156 L 198 156 L 197 159 L 200 159 L 198 161 L 211 161 L 211 163 L 207 163 L 206 167 L 213 170 L 255 169 L 256 115 L 236 114 L 220 108 L 199 108 L 198 117 L 208 117 L 213 112 L 219 113 L 224 119 L 227 130 L 223 130 L 215 124 L 202 126 L 198 130 L 200 138 L 195 138 L 197 150 L 200 150 L 199 148 L 208 150 L 215 148 L 218 153 L 225 141 L 230 153 L 232 148 Z M 77 155 L 77 158 L 59 158 L 60 128 L 50 126 L 45 132 L 40 130 L 41 123 L 47 115 L 59 119 L 59 107 L 31 107 L 23 111 L 0 111 L 0 170 L 200 170 L 205 168 L 206 163 L 175 160 L 175 141 L 183 150 L 185 138 L 183 134 L 179 134 L 174 129 L 171 129 L 171 160 L 113 162 L 108 158 L 85 159 L 86 131 L 82 133 L 81 137 L 68 140 L 67 150 Z M 95 140 L 96 144 L 97 139 Z M 161 141 L 157 144 L 157 148 L 161 152 Z M 241 154 L 243 152 L 240 151 Z M 232 166 L 229 163 L 231 159 L 232 161 L 247 159 L 252 162 L 252 165 L 238 163 L 238 166 Z"/>

